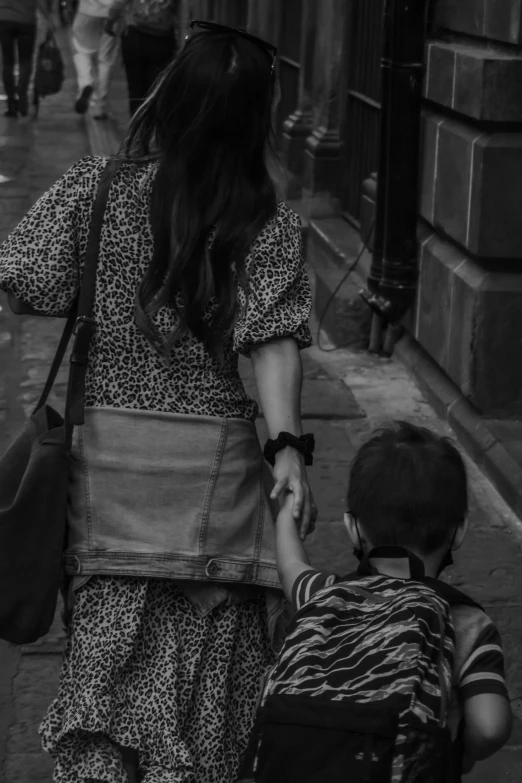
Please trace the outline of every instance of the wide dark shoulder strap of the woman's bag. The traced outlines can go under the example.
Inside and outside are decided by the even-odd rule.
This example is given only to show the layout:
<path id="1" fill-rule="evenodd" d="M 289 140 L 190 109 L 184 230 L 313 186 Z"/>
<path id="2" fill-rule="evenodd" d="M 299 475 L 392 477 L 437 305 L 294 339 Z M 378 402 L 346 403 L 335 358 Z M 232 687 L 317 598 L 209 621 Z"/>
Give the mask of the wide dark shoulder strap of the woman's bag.
<path id="1" fill-rule="evenodd" d="M 74 324 L 74 343 L 70 358 L 69 384 L 65 402 L 65 443 L 71 447 L 74 425 L 84 422 L 85 376 L 89 347 L 96 327 L 93 318 L 96 269 L 103 227 L 103 218 L 112 178 L 120 161 L 111 160 L 105 167 L 98 185 L 87 242 L 87 252 L 80 285 L 78 310 Z"/>

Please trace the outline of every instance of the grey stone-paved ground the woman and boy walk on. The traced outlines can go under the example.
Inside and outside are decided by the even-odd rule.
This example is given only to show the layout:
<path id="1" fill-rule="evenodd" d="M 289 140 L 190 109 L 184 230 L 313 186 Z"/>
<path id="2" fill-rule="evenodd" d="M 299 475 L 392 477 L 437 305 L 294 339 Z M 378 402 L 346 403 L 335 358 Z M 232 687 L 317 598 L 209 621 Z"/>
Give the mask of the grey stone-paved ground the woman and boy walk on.
<path id="1" fill-rule="evenodd" d="M 64 54 L 67 50 L 62 47 Z M 70 66 L 70 63 L 69 63 Z M 74 161 L 88 153 L 81 120 L 72 111 L 74 87 L 46 100 L 37 122 L 0 119 L 0 240 L 29 206 Z M 13 316 L 0 293 L 0 452 L 34 404 L 63 322 Z M 245 382 L 253 389 L 248 363 Z M 53 404 L 63 404 L 65 369 Z M 396 361 L 365 353 L 318 348 L 305 354 L 303 412 L 306 430 L 316 433 L 311 469 L 320 509 L 317 532 L 309 539 L 314 565 L 338 572 L 354 561 L 342 528 L 348 464 L 371 429 L 390 418 L 444 431 L 422 394 Z M 259 421 L 261 438 L 264 422 Z M 517 717 L 503 751 L 477 765 L 469 783 L 522 780 L 522 527 L 489 481 L 469 462 L 471 532 L 449 573 L 452 584 L 481 601 L 498 624 L 507 657 L 509 686 Z M 0 781 L 50 783 L 52 765 L 39 747 L 39 721 L 57 689 L 63 634 L 56 622 L 50 634 L 21 649 L 0 643 Z"/>

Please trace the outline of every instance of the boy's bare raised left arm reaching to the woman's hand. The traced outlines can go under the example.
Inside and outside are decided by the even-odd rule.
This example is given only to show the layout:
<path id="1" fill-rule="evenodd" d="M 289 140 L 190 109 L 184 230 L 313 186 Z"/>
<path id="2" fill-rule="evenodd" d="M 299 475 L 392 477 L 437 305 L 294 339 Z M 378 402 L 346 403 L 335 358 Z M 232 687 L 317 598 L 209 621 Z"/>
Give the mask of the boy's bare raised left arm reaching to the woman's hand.
<path id="1" fill-rule="evenodd" d="M 310 561 L 301 543 L 292 508 L 293 498 L 289 492 L 281 503 L 276 522 L 277 572 L 289 601 L 292 600 L 292 587 L 297 577 L 310 570 Z"/>

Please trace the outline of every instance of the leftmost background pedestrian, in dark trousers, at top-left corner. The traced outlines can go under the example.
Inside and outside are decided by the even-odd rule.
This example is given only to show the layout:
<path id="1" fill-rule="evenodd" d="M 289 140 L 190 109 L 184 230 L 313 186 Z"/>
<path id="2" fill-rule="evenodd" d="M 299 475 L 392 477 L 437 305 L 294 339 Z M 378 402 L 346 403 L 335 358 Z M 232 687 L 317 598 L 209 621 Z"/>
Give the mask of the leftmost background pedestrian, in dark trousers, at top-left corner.
<path id="1" fill-rule="evenodd" d="M 36 43 L 37 10 L 49 19 L 47 0 L 0 0 L 0 46 L 2 75 L 7 95 L 6 117 L 26 117 L 29 112 L 29 82 Z M 18 80 L 15 63 L 18 58 Z"/>

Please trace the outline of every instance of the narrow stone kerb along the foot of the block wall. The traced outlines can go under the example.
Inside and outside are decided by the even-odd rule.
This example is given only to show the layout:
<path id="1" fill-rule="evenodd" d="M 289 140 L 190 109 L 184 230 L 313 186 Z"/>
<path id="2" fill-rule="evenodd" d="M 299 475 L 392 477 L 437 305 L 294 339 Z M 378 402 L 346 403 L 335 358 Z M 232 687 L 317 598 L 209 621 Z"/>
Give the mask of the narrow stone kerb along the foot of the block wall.
<path id="1" fill-rule="evenodd" d="M 409 334 L 399 340 L 395 354 L 413 373 L 437 413 L 454 430 L 464 450 L 492 481 L 515 514 L 522 517 L 522 470 L 503 443 Z M 520 529 L 516 533 L 520 535 Z"/>

